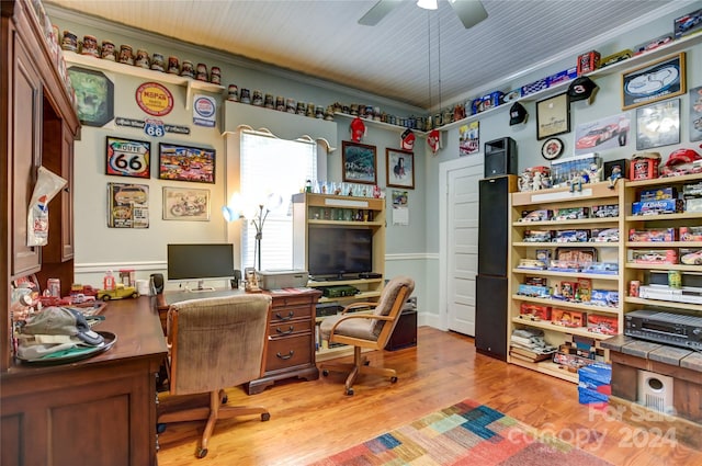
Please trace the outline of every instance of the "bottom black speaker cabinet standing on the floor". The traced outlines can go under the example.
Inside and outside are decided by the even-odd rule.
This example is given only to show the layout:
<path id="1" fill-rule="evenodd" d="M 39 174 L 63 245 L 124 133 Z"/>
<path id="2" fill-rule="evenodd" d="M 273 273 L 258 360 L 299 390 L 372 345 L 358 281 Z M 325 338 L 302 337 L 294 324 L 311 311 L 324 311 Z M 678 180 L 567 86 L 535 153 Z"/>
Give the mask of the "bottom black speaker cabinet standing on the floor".
<path id="1" fill-rule="evenodd" d="M 475 349 L 507 361 L 507 277 L 475 279 Z"/>

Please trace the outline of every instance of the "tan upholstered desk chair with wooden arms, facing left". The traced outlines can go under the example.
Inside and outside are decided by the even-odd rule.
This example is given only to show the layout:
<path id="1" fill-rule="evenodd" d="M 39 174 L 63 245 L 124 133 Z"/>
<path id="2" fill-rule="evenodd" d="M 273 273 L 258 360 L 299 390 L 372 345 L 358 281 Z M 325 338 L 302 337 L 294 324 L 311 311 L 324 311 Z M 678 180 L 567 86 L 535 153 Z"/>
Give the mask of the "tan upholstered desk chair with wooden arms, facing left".
<path id="1" fill-rule="evenodd" d="M 383 288 L 377 303 L 353 303 L 343 311 L 322 320 L 319 330 L 321 338 L 330 343 L 353 345 L 353 363 L 321 363 L 319 368 L 324 376 L 332 372 L 348 372 L 346 394 L 353 395 L 353 383 L 360 374 L 375 374 L 397 382 L 397 373 L 393 368 L 373 367 L 369 365 L 362 349 L 383 350 L 399 320 L 403 305 L 415 289 L 415 281 L 409 276 L 397 276 Z M 350 312 L 360 307 L 374 308 L 370 312 Z"/>

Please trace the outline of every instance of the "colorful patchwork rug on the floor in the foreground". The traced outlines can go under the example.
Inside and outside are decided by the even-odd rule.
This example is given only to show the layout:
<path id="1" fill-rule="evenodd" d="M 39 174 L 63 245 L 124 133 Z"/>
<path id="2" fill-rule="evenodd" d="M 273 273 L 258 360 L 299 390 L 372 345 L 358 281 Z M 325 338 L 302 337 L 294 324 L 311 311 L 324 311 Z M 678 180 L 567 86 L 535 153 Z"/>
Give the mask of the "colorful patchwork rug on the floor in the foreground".
<path id="1" fill-rule="evenodd" d="M 485 405 L 465 400 L 310 466 L 612 466 Z"/>

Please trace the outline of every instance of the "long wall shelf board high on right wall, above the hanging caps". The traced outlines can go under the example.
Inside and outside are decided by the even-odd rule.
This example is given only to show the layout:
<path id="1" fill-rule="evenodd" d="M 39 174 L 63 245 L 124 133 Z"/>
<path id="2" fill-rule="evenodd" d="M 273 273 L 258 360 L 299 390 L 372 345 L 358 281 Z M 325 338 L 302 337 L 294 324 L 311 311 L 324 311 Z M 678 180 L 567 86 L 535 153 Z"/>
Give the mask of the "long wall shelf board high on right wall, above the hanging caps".
<path id="1" fill-rule="evenodd" d="M 635 57 L 629 58 L 626 60 L 618 61 L 604 68 L 596 69 L 595 71 L 587 73 L 587 76 L 590 79 L 595 79 L 601 76 L 613 75 L 615 72 L 622 72 L 629 69 L 637 68 L 639 66 L 646 65 L 646 62 L 648 61 L 655 60 L 660 57 L 665 57 L 668 54 L 675 54 L 676 52 L 681 52 L 681 50 L 684 50 L 686 48 L 690 48 L 699 44 L 700 42 L 702 42 L 702 34 L 693 34 L 687 37 L 682 37 L 677 41 L 672 41 L 669 44 L 665 44 L 665 45 L 661 45 L 660 47 L 648 50 L 644 54 L 636 55 Z M 514 104 L 514 102 L 534 102 L 537 100 L 550 98 L 552 95 L 559 94 L 566 91 L 571 82 L 573 82 L 571 80 L 561 82 L 556 86 L 542 89 L 534 93 L 510 101 L 509 103 L 505 103 L 502 105 L 498 105 L 492 109 L 486 110 L 485 112 L 476 113 L 475 115 L 466 116 L 463 120 L 449 123 L 446 125 L 439 127 L 438 129 L 449 130 L 449 129 L 468 124 L 469 122 L 479 120 L 485 115 L 492 114 L 494 112 L 508 110 L 512 106 L 512 104 Z M 511 89 L 514 89 L 514 88 L 516 87 L 512 87 Z"/>

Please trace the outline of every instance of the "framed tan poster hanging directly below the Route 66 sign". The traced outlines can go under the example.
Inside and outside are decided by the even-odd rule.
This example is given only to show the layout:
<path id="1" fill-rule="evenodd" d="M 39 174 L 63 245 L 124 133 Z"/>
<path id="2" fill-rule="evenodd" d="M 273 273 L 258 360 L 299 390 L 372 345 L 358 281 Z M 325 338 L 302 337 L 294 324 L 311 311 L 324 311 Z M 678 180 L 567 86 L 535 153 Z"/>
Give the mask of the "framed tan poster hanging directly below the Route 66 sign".
<path id="1" fill-rule="evenodd" d="M 149 186 L 107 183 L 107 227 L 148 228 Z"/>

